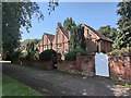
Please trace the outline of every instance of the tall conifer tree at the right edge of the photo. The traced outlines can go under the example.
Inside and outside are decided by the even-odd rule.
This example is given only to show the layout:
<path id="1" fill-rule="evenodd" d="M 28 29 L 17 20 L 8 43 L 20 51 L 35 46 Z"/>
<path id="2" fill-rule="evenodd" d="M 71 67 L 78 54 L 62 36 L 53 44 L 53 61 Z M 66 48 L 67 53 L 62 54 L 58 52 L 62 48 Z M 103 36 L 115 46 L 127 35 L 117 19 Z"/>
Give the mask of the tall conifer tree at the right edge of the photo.
<path id="1" fill-rule="evenodd" d="M 120 19 L 117 24 L 120 30 L 115 41 L 116 47 L 121 49 L 131 47 L 131 1 L 119 2 L 118 8 Z"/>

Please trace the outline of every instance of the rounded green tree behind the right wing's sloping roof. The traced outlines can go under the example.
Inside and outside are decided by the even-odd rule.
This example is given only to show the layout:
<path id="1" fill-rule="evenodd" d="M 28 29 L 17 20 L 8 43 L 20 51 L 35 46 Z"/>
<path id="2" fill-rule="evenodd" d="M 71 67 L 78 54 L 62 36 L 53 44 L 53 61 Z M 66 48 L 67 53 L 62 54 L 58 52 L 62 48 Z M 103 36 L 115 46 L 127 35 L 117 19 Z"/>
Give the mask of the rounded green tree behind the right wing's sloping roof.
<path id="1" fill-rule="evenodd" d="M 110 27 L 110 25 L 102 26 L 98 32 L 107 38 L 111 39 L 112 41 L 116 39 L 118 34 L 118 29 L 115 27 Z"/>

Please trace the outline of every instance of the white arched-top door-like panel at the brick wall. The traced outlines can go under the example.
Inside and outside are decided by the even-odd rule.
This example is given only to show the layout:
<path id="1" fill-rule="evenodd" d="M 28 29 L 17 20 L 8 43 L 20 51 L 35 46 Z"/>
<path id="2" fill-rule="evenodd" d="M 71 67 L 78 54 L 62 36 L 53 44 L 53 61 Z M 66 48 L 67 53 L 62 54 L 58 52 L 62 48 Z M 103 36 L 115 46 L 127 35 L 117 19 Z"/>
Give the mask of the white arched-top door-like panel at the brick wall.
<path id="1" fill-rule="evenodd" d="M 98 53 L 95 56 L 95 71 L 96 75 L 109 76 L 108 56 Z"/>

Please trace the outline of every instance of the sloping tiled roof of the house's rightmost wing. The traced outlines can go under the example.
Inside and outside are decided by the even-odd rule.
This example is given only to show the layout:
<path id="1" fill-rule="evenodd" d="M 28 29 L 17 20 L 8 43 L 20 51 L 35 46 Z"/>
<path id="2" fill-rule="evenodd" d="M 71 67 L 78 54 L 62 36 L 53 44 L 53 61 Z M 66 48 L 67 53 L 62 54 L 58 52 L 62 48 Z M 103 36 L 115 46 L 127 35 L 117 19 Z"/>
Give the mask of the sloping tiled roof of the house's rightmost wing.
<path id="1" fill-rule="evenodd" d="M 95 30 L 94 28 L 92 28 L 91 26 L 88 26 L 88 25 L 86 25 L 86 24 L 82 24 L 82 25 L 84 25 L 84 26 L 86 26 L 86 27 L 88 27 L 91 30 L 93 30 L 98 37 L 99 37 L 99 39 L 98 40 L 100 40 L 100 39 L 103 39 L 103 40 L 107 40 L 107 41 L 111 41 L 112 42 L 112 40 L 111 39 L 109 39 L 109 38 L 107 38 L 107 37 L 105 37 L 102 33 L 99 33 L 99 32 L 97 32 L 97 30 Z"/>

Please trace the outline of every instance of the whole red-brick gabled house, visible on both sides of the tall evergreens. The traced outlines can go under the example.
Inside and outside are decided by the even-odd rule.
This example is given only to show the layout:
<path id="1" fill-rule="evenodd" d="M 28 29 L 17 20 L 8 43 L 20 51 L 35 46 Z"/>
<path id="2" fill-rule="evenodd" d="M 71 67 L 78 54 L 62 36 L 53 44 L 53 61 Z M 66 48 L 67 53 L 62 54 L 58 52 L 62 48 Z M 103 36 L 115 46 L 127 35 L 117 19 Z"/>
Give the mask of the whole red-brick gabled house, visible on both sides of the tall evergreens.
<path id="1" fill-rule="evenodd" d="M 81 24 L 84 27 L 84 36 L 86 40 L 86 49 L 88 52 L 111 51 L 112 41 L 95 30 L 94 28 Z M 57 52 L 64 54 L 70 50 L 69 40 L 70 32 L 62 28 L 61 23 L 57 24 L 56 35 L 45 33 L 38 44 L 39 52 L 46 49 L 53 49 Z"/>

